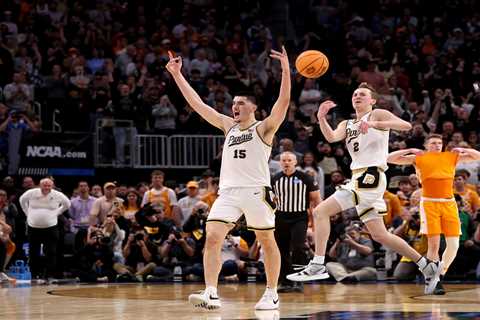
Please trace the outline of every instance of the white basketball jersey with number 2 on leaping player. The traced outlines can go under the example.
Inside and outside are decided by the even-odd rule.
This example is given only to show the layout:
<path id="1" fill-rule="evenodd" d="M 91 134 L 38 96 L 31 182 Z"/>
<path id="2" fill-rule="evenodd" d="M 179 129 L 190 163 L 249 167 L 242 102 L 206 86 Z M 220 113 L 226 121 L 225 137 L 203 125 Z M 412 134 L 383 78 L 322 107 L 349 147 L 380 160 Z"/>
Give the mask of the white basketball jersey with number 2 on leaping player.
<path id="1" fill-rule="evenodd" d="M 361 120 L 367 121 L 370 112 Z M 360 120 L 347 120 L 345 144 L 352 158 L 350 169 L 379 167 L 388 169 L 389 130 L 369 128 L 366 134 L 360 133 Z"/>

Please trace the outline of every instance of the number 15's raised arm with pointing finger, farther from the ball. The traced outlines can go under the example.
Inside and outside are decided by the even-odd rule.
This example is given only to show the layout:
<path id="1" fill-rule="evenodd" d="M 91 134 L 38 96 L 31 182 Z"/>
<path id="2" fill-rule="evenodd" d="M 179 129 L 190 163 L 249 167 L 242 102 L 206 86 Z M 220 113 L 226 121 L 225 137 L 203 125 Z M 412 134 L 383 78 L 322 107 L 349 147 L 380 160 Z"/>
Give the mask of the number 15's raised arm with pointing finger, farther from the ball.
<path id="1" fill-rule="evenodd" d="M 211 125 L 222 129 L 224 132 L 227 132 L 234 125 L 233 119 L 206 105 L 198 93 L 193 90 L 192 86 L 190 86 L 183 76 L 181 72 L 182 58 L 174 57 L 170 51 L 168 52 L 168 56 L 170 57 L 170 60 L 168 61 L 166 68 L 172 75 L 173 80 L 175 80 L 175 83 L 185 97 L 185 100 L 187 100 L 188 104 Z"/>

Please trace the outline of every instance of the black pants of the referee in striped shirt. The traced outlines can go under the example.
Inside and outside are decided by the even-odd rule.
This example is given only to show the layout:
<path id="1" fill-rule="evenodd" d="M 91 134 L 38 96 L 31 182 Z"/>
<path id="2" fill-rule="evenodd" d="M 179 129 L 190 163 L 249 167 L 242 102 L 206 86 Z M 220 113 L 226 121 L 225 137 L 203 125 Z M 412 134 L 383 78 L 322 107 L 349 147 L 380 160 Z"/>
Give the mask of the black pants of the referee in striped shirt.
<path id="1" fill-rule="evenodd" d="M 289 284 L 286 276 L 293 273 L 292 264 L 307 264 L 308 215 L 306 212 L 290 213 L 277 211 L 275 216 L 275 240 L 277 241 L 282 263 L 281 284 Z"/>

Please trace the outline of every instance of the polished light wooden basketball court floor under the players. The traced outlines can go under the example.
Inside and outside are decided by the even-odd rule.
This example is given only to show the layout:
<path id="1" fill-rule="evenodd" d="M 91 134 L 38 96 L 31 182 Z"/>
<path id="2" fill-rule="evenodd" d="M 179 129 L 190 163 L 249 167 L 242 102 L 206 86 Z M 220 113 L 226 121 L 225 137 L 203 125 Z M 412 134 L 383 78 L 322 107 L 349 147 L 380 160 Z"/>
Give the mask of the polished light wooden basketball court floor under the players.
<path id="1" fill-rule="evenodd" d="M 0 319 L 474 319 L 480 283 L 446 284 L 444 296 L 424 296 L 421 284 L 306 284 L 280 294 L 279 311 L 255 311 L 262 284 L 222 284 L 220 311 L 198 310 L 188 295 L 196 283 L 56 285 L 0 288 Z"/>

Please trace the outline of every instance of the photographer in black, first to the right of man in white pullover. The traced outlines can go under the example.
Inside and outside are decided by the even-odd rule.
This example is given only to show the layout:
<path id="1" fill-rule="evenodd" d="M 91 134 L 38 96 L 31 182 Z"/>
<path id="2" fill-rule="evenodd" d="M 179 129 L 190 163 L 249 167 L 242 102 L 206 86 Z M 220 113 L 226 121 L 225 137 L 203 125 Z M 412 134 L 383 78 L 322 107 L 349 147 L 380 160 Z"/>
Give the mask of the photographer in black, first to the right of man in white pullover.
<path id="1" fill-rule="evenodd" d="M 89 227 L 87 244 L 76 255 L 78 269 L 74 269 L 82 282 L 107 282 L 114 279 L 111 238 L 101 229 Z"/>

